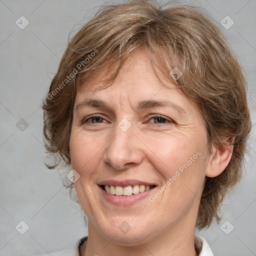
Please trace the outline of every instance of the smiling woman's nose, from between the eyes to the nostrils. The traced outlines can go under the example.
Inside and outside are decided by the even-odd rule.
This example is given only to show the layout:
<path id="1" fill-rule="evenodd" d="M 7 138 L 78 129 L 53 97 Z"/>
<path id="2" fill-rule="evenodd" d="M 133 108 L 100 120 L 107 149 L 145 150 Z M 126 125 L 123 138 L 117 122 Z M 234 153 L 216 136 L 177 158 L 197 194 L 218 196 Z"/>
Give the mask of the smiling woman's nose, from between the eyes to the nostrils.
<path id="1" fill-rule="evenodd" d="M 143 159 L 142 143 L 134 134 L 134 125 L 124 131 L 118 125 L 113 129 L 106 145 L 103 160 L 117 170 L 125 170 L 141 163 Z"/>

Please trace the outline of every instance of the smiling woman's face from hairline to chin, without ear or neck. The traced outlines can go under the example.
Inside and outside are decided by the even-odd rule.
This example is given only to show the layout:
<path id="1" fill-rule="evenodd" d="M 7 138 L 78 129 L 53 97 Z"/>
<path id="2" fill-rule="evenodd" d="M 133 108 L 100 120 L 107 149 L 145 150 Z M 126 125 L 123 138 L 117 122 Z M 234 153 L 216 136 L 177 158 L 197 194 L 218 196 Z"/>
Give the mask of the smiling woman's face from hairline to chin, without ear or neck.
<path id="1" fill-rule="evenodd" d="M 95 73 L 77 92 L 71 127 L 74 185 L 89 232 L 128 245 L 194 231 L 209 165 L 201 114 L 173 84 L 159 83 L 144 49 L 96 91 L 107 74 Z"/>

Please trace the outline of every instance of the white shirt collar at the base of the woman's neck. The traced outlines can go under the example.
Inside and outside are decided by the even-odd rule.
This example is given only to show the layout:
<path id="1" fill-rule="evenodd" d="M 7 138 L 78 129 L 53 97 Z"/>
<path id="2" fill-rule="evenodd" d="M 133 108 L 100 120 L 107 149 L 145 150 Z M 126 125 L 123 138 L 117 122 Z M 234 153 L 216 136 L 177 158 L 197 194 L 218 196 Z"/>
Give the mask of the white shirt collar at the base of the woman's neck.
<path id="1" fill-rule="evenodd" d="M 50 255 L 51 256 L 79 256 L 79 245 L 83 242 L 85 238 L 86 236 L 79 239 L 77 242 L 68 245 L 61 251 L 50 253 Z M 199 256 L 213 256 L 210 246 L 202 236 L 195 235 L 194 242 L 195 242 L 195 246 L 200 251 Z M 49 254 L 47 253 L 47 254 L 38 255 L 38 256 L 48 256 L 48 255 Z"/>

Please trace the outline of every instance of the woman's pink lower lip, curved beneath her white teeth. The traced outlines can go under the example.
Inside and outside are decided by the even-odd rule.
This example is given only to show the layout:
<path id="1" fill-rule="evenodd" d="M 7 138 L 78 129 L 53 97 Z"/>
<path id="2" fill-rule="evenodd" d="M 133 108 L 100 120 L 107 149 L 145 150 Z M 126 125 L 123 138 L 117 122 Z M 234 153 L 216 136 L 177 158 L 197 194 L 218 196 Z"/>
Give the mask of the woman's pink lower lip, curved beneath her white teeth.
<path id="1" fill-rule="evenodd" d="M 104 198 L 114 204 L 114 205 L 132 205 L 135 204 L 137 202 L 139 202 L 140 200 L 144 199 L 145 197 L 148 197 L 149 193 L 151 193 L 151 191 L 154 188 L 151 188 L 147 191 L 144 192 L 139 192 L 137 194 L 131 194 L 131 195 L 113 195 L 113 194 L 109 194 L 107 193 L 104 189 L 102 189 L 102 187 L 99 186 L 99 189 L 101 190 Z"/>

